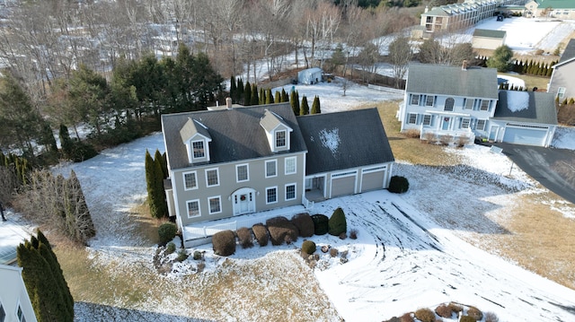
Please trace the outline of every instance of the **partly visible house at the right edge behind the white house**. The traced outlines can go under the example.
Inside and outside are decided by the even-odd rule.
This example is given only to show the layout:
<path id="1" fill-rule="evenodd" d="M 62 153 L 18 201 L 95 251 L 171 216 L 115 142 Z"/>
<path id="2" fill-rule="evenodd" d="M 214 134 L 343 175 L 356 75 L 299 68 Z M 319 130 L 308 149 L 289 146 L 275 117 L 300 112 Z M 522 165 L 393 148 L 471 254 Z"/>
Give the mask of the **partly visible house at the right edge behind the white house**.
<path id="1" fill-rule="evenodd" d="M 553 65 L 553 74 L 547 86 L 560 102 L 575 98 L 575 39 L 569 40 L 559 63 Z"/>

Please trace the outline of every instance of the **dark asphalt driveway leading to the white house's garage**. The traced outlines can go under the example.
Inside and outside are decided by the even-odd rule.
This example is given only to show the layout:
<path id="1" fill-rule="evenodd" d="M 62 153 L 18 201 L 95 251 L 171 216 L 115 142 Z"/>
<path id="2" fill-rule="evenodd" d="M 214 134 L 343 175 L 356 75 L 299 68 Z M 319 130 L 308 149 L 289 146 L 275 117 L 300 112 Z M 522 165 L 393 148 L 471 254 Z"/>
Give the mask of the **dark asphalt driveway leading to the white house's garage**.
<path id="1" fill-rule="evenodd" d="M 575 167 L 575 151 L 517 144 L 497 146 L 529 176 L 575 204 L 575 173 L 572 168 Z"/>

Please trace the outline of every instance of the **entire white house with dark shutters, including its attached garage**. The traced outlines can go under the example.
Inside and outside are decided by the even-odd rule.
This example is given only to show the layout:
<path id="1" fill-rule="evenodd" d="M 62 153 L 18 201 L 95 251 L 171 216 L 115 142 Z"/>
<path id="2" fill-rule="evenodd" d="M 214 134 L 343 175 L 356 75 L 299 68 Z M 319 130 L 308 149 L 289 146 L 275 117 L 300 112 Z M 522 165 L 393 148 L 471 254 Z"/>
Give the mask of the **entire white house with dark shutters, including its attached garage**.
<path id="1" fill-rule="evenodd" d="M 515 100 L 511 100 L 513 98 Z M 404 101 L 397 117 L 402 132 L 415 130 L 420 138 L 548 146 L 557 114 L 544 92 L 499 91 L 492 68 L 409 66 Z"/>

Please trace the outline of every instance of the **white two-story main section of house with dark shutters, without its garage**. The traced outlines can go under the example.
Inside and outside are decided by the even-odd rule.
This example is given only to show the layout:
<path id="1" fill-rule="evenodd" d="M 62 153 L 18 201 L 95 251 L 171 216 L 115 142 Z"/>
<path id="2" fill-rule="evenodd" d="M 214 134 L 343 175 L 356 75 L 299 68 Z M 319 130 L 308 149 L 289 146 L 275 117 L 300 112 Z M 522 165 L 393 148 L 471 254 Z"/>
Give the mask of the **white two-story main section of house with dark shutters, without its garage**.
<path id="1" fill-rule="evenodd" d="M 402 132 L 417 130 L 421 139 L 450 136 L 473 143 L 475 136 L 488 135 L 497 100 L 495 69 L 411 64 L 397 116 Z"/>

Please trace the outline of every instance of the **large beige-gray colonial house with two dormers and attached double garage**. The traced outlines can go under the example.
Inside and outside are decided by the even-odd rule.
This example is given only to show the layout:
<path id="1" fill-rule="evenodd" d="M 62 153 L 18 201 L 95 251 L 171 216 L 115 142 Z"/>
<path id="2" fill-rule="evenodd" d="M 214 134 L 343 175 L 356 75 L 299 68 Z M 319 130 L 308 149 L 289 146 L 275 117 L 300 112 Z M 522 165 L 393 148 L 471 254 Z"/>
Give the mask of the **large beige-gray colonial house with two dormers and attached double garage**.
<path id="1" fill-rule="evenodd" d="M 386 188 L 376 109 L 296 117 L 289 103 L 162 116 L 169 212 L 187 225 Z"/>

